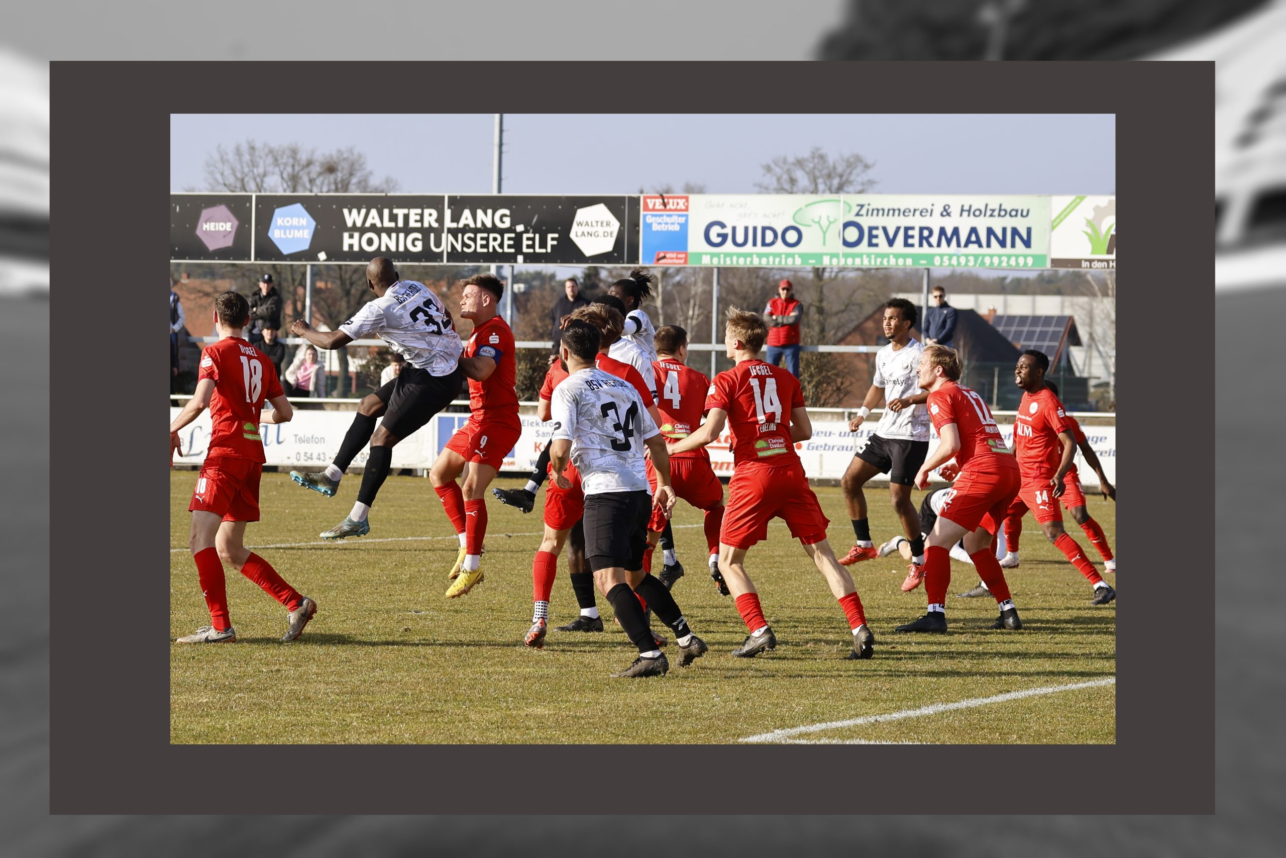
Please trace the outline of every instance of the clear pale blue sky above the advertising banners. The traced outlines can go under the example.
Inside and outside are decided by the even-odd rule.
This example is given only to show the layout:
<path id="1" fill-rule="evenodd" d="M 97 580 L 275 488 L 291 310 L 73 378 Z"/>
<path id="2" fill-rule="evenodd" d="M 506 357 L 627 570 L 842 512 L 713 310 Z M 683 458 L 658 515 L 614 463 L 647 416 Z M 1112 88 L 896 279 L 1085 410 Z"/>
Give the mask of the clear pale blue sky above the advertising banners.
<path id="1" fill-rule="evenodd" d="M 877 193 L 1111 194 L 1112 114 L 534 114 L 504 120 L 502 189 L 756 193 L 760 165 L 814 145 L 874 162 Z M 372 132 L 373 126 L 379 132 Z M 403 192 L 490 193 L 494 114 L 174 114 L 170 188 L 203 190 L 216 144 L 352 145 Z"/>

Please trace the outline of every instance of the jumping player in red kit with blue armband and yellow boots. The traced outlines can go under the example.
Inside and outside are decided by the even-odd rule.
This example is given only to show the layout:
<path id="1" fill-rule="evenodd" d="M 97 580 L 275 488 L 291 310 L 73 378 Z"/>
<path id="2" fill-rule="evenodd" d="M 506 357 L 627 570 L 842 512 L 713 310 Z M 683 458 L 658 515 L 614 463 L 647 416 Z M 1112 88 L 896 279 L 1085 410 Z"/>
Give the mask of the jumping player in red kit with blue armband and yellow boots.
<path id="1" fill-rule="evenodd" d="M 469 379 L 469 419 L 446 443 L 428 472 L 460 539 L 446 598 L 464 596 L 482 581 L 484 495 L 522 435 L 513 331 L 499 315 L 502 295 L 504 283 L 494 274 L 475 274 L 464 280 L 460 315 L 473 322 L 473 333 L 460 356 L 460 369 Z M 462 473 L 463 489 L 455 481 Z"/>

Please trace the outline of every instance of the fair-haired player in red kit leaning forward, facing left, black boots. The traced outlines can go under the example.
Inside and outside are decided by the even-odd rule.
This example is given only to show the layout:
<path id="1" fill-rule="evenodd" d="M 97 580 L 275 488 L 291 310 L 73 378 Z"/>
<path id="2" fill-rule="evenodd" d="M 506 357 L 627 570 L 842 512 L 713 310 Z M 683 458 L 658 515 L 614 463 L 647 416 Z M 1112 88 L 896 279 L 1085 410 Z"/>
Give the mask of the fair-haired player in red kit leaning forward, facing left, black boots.
<path id="1" fill-rule="evenodd" d="M 928 488 L 928 475 L 953 458 L 959 475 L 937 512 L 937 521 L 925 548 L 925 594 L 928 610 L 925 616 L 896 626 L 896 632 L 945 632 L 946 587 L 952 580 L 952 545 L 964 539 L 964 551 L 1001 606 L 993 628 L 1020 629 L 1019 611 L 1010 598 L 992 538 L 1004 520 L 1021 477 L 1013 454 L 1001 437 L 1001 428 L 992 419 L 983 397 L 957 382 L 961 360 L 946 346 L 925 346 L 919 358 L 918 382 L 928 391 L 928 418 L 937 430 L 937 446 L 919 466 L 916 488 Z"/>

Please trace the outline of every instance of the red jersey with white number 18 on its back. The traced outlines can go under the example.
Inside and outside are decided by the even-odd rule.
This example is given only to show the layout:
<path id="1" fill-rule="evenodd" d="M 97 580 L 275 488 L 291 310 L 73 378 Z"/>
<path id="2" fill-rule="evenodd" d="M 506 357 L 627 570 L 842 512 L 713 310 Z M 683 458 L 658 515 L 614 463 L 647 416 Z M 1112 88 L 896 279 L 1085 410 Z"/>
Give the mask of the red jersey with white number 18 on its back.
<path id="1" fill-rule="evenodd" d="M 258 413 L 264 400 L 282 396 L 273 360 L 240 337 L 226 337 L 201 352 L 197 379 L 212 378 L 210 397 L 210 449 L 207 457 L 222 455 L 264 463 L 264 440 Z"/>

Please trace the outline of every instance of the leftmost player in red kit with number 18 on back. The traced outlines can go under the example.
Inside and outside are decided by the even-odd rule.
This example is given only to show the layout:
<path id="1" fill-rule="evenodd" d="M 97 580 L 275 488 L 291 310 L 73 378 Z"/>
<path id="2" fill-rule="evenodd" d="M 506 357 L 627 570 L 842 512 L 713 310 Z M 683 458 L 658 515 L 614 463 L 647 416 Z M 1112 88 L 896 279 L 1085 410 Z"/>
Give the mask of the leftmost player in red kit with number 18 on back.
<path id="1" fill-rule="evenodd" d="M 284 423 L 293 417 L 273 361 L 240 336 L 248 322 L 249 304 L 240 295 L 224 292 L 215 298 L 215 331 L 220 340 L 202 350 L 197 392 L 170 423 L 172 462 L 179 450 L 179 430 L 210 408 L 210 449 L 188 504 L 192 512 L 188 544 L 210 608 L 210 625 L 179 638 L 179 643 L 237 641 L 228 614 L 225 562 L 285 606 L 288 625 L 283 641 L 297 639 L 318 610 L 316 602 L 301 596 L 266 560 L 243 544 L 246 522 L 258 521 L 258 479 L 264 471 L 258 426 Z M 261 418 L 265 400 L 273 410 Z"/>

